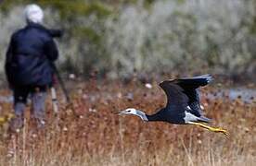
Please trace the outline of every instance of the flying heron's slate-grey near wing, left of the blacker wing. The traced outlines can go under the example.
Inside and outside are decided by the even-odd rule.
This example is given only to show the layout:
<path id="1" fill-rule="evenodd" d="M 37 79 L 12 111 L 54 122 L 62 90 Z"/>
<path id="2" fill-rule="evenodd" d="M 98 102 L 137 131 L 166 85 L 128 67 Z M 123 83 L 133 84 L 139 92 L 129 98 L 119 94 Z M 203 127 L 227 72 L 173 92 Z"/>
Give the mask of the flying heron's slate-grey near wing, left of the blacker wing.
<path id="1" fill-rule="evenodd" d="M 166 111 L 172 113 L 183 113 L 188 106 L 188 97 L 179 85 L 173 81 L 166 80 L 160 83 L 160 88 L 164 90 L 167 96 Z"/>

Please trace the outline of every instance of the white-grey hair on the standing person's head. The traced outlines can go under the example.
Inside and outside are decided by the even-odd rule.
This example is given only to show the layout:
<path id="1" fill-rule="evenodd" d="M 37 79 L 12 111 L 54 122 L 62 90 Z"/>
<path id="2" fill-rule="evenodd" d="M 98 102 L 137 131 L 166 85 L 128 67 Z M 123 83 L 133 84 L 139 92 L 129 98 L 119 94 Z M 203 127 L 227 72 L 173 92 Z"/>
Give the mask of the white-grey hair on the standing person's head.
<path id="1" fill-rule="evenodd" d="M 28 23 L 43 23 L 44 12 L 40 6 L 35 4 L 28 5 L 25 7 L 24 13 Z"/>

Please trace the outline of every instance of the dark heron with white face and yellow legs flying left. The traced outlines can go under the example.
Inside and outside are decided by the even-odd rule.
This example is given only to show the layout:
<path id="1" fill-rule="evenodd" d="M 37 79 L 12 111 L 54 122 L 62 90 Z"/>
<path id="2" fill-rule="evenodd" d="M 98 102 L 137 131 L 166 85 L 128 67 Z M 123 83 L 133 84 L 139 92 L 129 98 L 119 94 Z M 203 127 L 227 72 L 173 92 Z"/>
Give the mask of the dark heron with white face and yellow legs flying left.
<path id="1" fill-rule="evenodd" d="M 119 114 L 134 114 L 146 122 L 163 121 L 175 125 L 198 125 L 209 131 L 228 135 L 223 128 L 202 124 L 209 123 L 211 119 L 202 113 L 198 88 L 206 86 L 211 80 L 210 75 L 202 75 L 162 81 L 160 88 L 164 90 L 167 96 L 165 108 L 150 115 L 134 108 L 128 108 Z"/>

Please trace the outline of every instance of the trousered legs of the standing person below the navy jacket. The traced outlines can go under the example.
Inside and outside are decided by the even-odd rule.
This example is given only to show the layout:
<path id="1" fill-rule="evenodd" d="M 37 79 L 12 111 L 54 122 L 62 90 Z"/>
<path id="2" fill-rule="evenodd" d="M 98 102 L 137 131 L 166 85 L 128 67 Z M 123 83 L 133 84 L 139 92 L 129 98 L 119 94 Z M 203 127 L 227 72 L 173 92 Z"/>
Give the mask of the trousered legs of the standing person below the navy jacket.
<path id="1" fill-rule="evenodd" d="M 16 131 L 23 126 L 24 111 L 29 95 L 32 100 L 32 117 L 38 127 L 44 126 L 46 86 L 19 86 L 13 89 L 13 93 L 16 118 L 11 123 L 11 129 Z"/>

